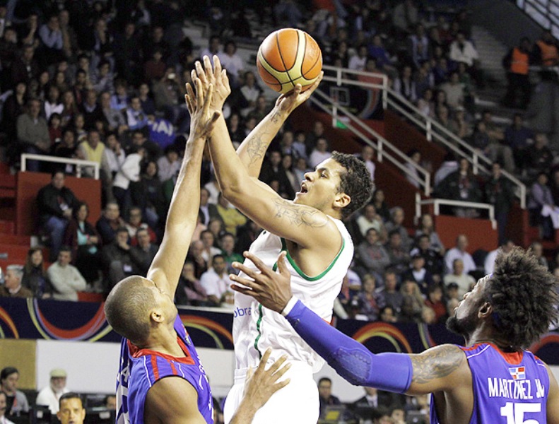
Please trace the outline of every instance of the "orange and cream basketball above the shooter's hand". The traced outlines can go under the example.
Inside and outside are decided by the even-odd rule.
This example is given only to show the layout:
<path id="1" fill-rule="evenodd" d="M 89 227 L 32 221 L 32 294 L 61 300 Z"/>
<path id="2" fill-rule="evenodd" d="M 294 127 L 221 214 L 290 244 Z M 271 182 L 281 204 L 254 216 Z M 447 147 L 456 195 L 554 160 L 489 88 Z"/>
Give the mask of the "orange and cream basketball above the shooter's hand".
<path id="1" fill-rule="evenodd" d="M 301 84 L 305 91 L 322 71 L 322 52 L 305 31 L 283 28 L 268 35 L 260 45 L 257 68 L 272 90 L 289 93 Z"/>

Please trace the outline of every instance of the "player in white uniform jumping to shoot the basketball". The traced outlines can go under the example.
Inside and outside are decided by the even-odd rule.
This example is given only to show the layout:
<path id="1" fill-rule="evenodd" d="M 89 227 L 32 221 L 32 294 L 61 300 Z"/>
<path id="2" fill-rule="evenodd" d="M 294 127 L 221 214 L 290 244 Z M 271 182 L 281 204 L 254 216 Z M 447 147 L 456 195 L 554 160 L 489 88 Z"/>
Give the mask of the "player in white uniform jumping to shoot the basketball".
<path id="1" fill-rule="evenodd" d="M 297 85 L 293 93 L 281 95 L 270 114 L 242 142 L 238 155 L 223 117 L 216 122 L 208 144 L 223 196 L 265 230 L 250 247 L 251 252 L 273 266 L 279 252 L 286 250 L 293 292 L 319 317 L 330 321 L 334 299 L 353 259 L 353 242 L 341 219 L 370 197 L 365 165 L 353 155 L 334 152 L 332 158 L 305 175 L 293 201 L 282 199 L 257 179 L 269 143 L 321 79 L 304 93 Z M 219 59 L 213 57 L 213 67 L 208 57 L 204 57 L 204 66 L 196 62 L 192 80 L 216 87 L 211 109 L 220 111 L 230 88 Z M 254 423 L 316 423 L 319 400 L 312 374 L 324 361 L 285 320 L 249 296 L 236 293 L 235 308 L 239 311 L 233 320 L 235 385 L 225 403 L 225 422 L 239 405 L 247 368 L 257 365 L 261 353 L 271 347 L 272 355 L 288 355 L 292 367 L 286 375 L 291 383 L 257 412 Z"/>

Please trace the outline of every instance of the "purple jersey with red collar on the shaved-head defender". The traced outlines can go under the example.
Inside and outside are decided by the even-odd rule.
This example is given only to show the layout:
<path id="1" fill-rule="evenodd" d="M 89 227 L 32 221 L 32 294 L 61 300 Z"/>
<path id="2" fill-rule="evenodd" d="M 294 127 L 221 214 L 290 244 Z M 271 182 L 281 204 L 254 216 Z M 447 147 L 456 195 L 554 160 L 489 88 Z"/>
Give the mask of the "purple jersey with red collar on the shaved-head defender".
<path id="1" fill-rule="evenodd" d="M 204 367 L 179 315 L 174 324 L 184 357 L 175 358 L 139 349 L 126 338 L 120 345 L 120 365 L 117 375 L 117 424 L 143 424 L 143 406 L 148 390 L 165 377 L 181 377 L 198 392 L 198 409 L 206 423 L 213 423 L 213 399 Z"/>

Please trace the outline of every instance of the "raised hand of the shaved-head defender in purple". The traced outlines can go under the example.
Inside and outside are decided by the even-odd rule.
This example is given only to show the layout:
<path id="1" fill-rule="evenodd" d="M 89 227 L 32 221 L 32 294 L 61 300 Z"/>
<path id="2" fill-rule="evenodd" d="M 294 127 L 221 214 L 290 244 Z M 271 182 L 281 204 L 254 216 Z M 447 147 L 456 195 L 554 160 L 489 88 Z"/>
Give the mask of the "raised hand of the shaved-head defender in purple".
<path id="1" fill-rule="evenodd" d="M 196 94 L 194 94 L 192 85 L 187 83 L 187 94 L 184 95 L 184 101 L 187 103 L 191 117 L 190 139 L 206 139 L 213 129 L 213 124 L 220 117 L 220 112 L 212 111 L 210 108 L 213 85 L 208 84 L 204 88 L 199 78 L 192 82 L 196 86 Z"/>

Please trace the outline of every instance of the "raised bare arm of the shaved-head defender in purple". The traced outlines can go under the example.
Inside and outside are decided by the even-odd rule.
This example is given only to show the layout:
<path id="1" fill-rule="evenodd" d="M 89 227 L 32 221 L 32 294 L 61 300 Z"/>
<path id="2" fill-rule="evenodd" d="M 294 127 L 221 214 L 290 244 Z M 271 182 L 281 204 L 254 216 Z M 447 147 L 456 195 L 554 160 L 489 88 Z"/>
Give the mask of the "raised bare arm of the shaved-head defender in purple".
<path id="1" fill-rule="evenodd" d="M 172 194 L 165 235 L 147 274 L 171 298 L 175 295 L 182 264 L 196 227 L 200 206 L 200 168 L 206 136 L 220 115 L 210 111 L 213 86 L 208 85 L 204 89 L 197 81 L 196 95 L 189 84 L 187 92 L 185 100 L 192 117 L 190 136 Z"/>

